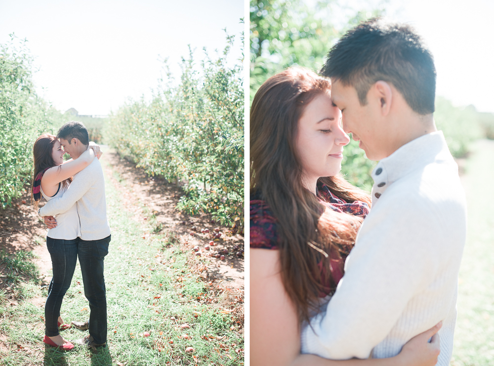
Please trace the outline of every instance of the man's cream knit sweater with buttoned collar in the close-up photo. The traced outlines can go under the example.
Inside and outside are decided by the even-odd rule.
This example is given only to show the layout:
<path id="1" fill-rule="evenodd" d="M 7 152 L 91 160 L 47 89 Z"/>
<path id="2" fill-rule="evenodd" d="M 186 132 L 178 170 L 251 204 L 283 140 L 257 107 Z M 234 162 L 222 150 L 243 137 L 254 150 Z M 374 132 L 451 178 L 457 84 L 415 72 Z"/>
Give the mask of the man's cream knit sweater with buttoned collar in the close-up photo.
<path id="1" fill-rule="evenodd" d="M 466 203 L 442 131 L 381 160 L 372 178 L 371 212 L 325 313 L 302 330 L 302 353 L 392 357 L 443 321 L 437 365 L 448 366 Z"/>

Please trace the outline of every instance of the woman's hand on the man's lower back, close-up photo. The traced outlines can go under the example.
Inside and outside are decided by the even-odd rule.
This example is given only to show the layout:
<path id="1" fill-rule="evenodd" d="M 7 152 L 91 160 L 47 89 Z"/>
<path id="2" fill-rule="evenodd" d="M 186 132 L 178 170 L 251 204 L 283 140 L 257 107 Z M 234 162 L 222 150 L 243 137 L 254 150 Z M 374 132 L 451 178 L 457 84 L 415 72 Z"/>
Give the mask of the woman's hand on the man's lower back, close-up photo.
<path id="1" fill-rule="evenodd" d="M 400 359 L 400 365 L 403 366 L 434 366 L 439 356 L 439 334 L 443 322 L 439 322 L 429 330 L 424 331 L 411 340 L 402 348 L 397 356 Z M 431 338 L 429 343 L 429 338 Z"/>

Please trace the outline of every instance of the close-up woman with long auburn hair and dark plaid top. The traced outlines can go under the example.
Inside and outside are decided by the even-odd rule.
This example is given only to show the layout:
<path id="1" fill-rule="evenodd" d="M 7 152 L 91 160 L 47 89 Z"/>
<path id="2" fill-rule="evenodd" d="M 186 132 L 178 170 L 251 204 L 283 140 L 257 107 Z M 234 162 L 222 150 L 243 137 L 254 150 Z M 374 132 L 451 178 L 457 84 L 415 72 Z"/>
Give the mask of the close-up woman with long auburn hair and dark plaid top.
<path id="1" fill-rule="evenodd" d="M 252 101 L 251 365 L 435 365 L 440 324 L 393 358 L 300 354 L 300 332 L 330 301 L 371 204 L 339 173 L 350 139 L 330 88 L 329 79 L 289 68 L 264 82 Z"/>

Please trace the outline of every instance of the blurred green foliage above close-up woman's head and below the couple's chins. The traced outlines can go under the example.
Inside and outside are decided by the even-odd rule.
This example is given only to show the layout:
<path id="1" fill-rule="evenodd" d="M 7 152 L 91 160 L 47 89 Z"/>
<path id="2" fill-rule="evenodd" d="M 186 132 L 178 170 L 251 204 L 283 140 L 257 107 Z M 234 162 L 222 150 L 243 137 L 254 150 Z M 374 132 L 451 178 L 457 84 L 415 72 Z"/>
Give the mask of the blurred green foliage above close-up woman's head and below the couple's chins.
<path id="1" fill-rule="evenodd" d="M 321 0 L 250 1 L 250 102 L 269 77 L 290 66 L 319 72 L 334 42 L 361 21 L 383 14 L 382 9 L 355 10 L 343 26 L 331 19 L 341 4 Z M 371 190 L 375 163 L 351 141 L 343 151 L 342 173 L 350 183 Z"/>

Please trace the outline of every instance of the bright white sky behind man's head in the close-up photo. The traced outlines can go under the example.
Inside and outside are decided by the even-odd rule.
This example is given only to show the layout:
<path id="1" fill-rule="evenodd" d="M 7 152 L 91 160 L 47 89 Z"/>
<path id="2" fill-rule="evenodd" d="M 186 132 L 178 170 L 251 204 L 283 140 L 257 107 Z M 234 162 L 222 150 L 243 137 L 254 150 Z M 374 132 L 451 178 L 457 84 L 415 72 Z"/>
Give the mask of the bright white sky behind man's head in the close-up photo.
<path id="1" fill-rule="evenodd" d="M 437 71 L 436 94 L 457 106 L 473 104 L 494 112 L 494 31 L 492 0 L 350 0 L 383 3 L 386 16 L 411 24 L 431 49 Z M 365 5 L 364 5 L 365 6 Z M 370 8 L 370 7 L 368 7 Z"/>

